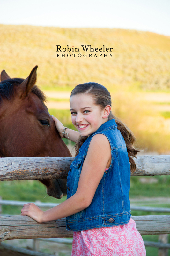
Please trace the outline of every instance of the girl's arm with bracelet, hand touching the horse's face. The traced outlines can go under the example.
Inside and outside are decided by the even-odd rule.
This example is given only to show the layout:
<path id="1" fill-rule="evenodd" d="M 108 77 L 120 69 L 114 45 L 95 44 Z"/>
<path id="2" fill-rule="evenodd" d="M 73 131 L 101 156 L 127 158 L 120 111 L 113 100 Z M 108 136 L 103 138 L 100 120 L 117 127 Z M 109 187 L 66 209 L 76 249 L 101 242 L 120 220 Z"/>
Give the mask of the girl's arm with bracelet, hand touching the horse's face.
<path id="1" fill-rule="evenodd" d="M 60 134 L 60 137 L 63 138 L 63 129 L 65 128 L 65 126 L 54 116 L 52 116 L 54 122 L 55 122 L 55 126 Z M 67 134 L 68 133 L 68 134 Z M 69 136 L 69 137 L 68 137 Z M 80 134 L 77 131 L 74 131 L 72 129 L 66 129 L 65 131 L 65 137 L 73 142 L 77 142 L 78 138 L 79 138 Z"/>

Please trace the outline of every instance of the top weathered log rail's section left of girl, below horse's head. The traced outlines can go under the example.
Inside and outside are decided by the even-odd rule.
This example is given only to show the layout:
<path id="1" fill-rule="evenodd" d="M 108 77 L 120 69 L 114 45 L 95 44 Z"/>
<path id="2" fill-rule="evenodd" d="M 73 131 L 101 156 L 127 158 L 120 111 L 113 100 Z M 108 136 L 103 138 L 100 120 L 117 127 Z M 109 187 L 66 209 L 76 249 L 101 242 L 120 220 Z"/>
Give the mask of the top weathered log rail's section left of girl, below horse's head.
<path id="1" fill-rule="evenodd" d="M 74 157 L 0 158 L 0 180 L 43 180 L 67 178 Z"/>

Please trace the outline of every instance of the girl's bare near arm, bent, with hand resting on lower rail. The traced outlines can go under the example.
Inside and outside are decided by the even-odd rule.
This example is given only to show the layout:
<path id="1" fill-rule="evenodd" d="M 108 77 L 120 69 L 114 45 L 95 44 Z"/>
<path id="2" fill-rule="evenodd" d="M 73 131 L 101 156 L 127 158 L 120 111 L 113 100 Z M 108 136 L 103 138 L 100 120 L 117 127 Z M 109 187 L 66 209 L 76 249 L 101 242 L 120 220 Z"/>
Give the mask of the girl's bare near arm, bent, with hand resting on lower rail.
<path id="1" fill-rule="evenodd" d="M 94 197 L 106 168 L 111 163 L 111 148 L 107 137 L 96 134 L 83 163 L 76 193 L 65 202 L 43 212 L 35 204 L 25 204 L 21 215 L 28 215 L 39 223 L 70 216 L 87 208 Z"/>

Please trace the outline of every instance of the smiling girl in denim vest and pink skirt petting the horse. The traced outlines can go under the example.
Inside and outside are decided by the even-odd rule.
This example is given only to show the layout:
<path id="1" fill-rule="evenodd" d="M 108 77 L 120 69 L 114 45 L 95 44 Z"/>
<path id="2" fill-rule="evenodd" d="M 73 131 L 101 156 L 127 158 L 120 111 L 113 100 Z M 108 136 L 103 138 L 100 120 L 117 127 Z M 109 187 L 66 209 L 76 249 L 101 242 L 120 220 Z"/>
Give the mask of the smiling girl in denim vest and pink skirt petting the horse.
<path id="1" fill-rule="evenodd" d="M 111 113 L 111 96 L 97 83 L 77 85 L 70 95 L 68 129 L 53 117 L 61 137 L 76 142 L 67 178 L 67 200 L 47 211 L 25 204 L 21 215 L 39 223 L 66 217 L 74 231 L 72 256 L 144 256 L 144 242 L 131 219 L 132 132 Z"/>

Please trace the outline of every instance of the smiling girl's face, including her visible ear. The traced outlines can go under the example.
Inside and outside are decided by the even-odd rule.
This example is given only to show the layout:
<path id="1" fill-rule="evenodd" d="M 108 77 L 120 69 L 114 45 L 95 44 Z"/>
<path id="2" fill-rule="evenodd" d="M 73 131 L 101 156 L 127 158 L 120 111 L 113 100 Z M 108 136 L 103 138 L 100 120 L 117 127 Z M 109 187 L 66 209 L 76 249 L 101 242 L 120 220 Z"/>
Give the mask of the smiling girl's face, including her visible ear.
<path id="1" fill-rule="evenodd" d="M 81 136 L 90 136 L 107 121 L 111 107 L 103 110 L 94 104 L 90 94 L 77 94 L 70 97 L 70 111 L 73 125 Z"/>

